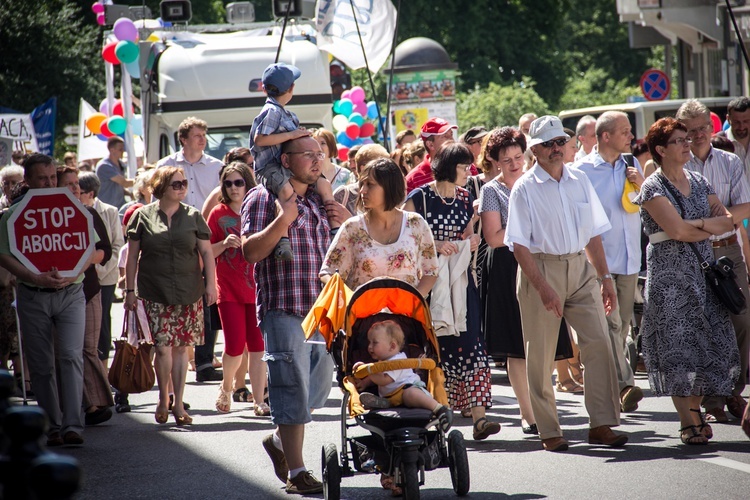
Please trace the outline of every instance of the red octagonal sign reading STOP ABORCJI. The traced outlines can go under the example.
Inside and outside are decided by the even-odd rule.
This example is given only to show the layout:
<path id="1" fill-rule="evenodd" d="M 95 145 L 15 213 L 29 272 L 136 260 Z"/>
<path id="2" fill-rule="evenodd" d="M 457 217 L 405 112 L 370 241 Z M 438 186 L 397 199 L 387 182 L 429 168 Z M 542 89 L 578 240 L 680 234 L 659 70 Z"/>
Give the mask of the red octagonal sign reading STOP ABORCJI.
<path id="1" fill-rule="evenodd" d="M 94 252 L 93 227 L 69 189 L 31 189 L 8 218 L 10 251 L 35 273 L 76 277 Z"/>

